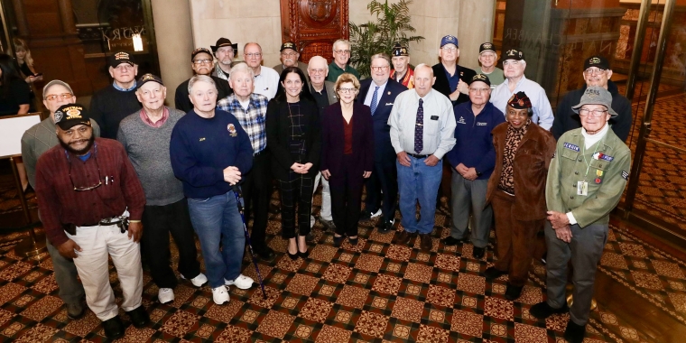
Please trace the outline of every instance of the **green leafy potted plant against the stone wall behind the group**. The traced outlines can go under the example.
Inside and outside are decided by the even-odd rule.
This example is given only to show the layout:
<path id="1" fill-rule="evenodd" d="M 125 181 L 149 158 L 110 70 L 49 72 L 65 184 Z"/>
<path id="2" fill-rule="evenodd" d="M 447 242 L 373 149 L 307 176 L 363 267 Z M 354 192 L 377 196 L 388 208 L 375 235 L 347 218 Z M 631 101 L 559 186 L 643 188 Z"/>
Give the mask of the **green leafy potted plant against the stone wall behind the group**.
<path id="1" fill-rule="evenodd" d="M 420 42 L 422 36 L 408 36 L 408 32 L 415 32 L 410 24 L 410 9 L 407 5 L 413 0 L 400 0 L 396 4 L 388 4 L 388 0 L 378 2 L 372 0 L 366 8 L 370 14 L 376 15 L 376 22 L 360 25 L 349 23 L 352 64 L 363 78 L 369 77 L 370 58 L 379 52 L 390 53 L 395 42 L 407 46 L 410 42 Z"/>

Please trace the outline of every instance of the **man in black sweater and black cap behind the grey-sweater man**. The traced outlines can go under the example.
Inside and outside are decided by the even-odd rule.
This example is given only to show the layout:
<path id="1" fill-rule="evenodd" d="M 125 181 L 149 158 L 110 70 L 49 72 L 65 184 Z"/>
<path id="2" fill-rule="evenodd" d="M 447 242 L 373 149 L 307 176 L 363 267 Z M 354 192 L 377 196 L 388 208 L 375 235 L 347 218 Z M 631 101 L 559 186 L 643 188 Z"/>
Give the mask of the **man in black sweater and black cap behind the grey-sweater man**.
<path id="1" fill-rule="evenodd" d="M 130 52 L 117 51 L 107 58 L 111 85 L 97 91 L 90 99 L 90 116 L 97 121 L 103 138 L 116 139 L 119 122 L 141 109 L 135 97 L 135 76 L 138 65 Z"/>

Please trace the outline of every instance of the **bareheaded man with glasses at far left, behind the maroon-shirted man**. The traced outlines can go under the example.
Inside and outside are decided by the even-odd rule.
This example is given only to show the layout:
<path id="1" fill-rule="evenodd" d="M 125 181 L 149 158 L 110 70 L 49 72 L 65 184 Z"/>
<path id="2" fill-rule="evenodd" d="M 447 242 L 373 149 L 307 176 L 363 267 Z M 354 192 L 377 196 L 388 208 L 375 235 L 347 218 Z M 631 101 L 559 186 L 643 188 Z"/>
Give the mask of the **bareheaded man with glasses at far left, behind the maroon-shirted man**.
<path id="1" fill-rule="evenodd" d="M 33 125 L 22 135 L 22 158 L 29 176 L 29 184 L 33 189 L 36 188 L 36 163 L 38 158 L 51 147 L 60 144 L 60 140 L 55 135 L 57 125 L 55 125 L 55 111 L 62 105 L 73 104 L 76 102 L 74 92 L 67 82 L 53 79 L 43 88 L 43 105 L 50 111 L 50 116 L 41 123 Z M 93 127 L 93 134 L 100 136 L 100 127 L 96 121 L 90 119 Z M 39 218 L 41 214 L 39 212 Z M 60 298 L 67 307 L 67 316 L 70 319 L 79 319 L 84 314 L 82 305 L 85 293 L 83 285 L 77 278 L 77 270 L 74 262 L 60 255 L 55 246 L 50 244 L 48 254 L 52 260 L 52 269 L 55 272 L 55 281 L 60 288 Z"/>

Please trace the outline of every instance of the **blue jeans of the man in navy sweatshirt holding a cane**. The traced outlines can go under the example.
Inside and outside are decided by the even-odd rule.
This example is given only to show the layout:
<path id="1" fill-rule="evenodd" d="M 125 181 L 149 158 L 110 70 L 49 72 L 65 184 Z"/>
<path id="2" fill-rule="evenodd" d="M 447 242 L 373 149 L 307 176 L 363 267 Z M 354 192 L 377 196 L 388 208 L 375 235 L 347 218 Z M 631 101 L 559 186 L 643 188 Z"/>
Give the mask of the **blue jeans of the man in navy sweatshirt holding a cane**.
<path id="1" fill-rule="evenodd" d="M 224 285 L 224 279 L 236 279 L 241 273 L 246 236 L 233 190 L 208 199 L 188 199 L 188 207 L 190 222 L 200 240 L 209 286 L 217 288 Z"/>

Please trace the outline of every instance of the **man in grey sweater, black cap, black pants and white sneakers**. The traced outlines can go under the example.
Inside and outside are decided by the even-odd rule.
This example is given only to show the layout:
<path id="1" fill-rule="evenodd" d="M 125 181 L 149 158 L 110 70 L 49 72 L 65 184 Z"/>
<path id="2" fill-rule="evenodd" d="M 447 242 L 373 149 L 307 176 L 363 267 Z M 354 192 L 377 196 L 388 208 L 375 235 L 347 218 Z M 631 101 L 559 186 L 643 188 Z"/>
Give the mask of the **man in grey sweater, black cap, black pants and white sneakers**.
<path id="1" fill-rule="evenodd" d="M 200 273 L 188 203 L 183 185 L 172 171 L 169 154 L 172 129 L 185 113 L 164 106 L 167 88 L 156 75 L 144 74 L 138 79 L 135 95 L 143 108 L 122 120 L 116 139 L 124 145 L 145 191 L 141 245 L 159 288 L 157 299 L 166 303 L 174 300 L 173 289 L 178 283 L 170 266 L 170 234 L 179 249 L 181 278 L 189 279 L 196 287 L 208 281 Z"/>

